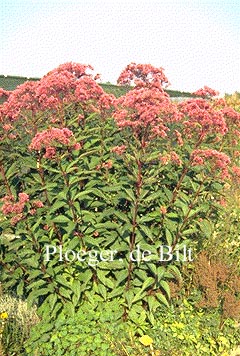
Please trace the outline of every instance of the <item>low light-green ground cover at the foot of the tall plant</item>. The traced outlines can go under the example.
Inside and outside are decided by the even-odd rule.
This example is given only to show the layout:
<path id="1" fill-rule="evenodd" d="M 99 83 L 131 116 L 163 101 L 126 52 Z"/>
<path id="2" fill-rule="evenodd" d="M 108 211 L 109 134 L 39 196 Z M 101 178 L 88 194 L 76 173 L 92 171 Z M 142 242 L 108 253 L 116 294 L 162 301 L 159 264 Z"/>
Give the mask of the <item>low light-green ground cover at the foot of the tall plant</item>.
<path id="1" fill-rule="evenodd" d="M 26 344 L 27 355 L 145 356 L 151 349 L 154 356 L 229 355 L 240 342 L 234 321 L 219 330 L 216 312 L 196 311 L 186 301 L 168 310 L 167 318 L 166 310 L 157 313 L 153 328 L 142 322 L 145 334 L 134 337 L 134 326 L 120 320 L 118 302 L 100 303 L 97 310 L 85 305 L 72 318 L 61 315 L 55 325 L 41 322 Z"/>

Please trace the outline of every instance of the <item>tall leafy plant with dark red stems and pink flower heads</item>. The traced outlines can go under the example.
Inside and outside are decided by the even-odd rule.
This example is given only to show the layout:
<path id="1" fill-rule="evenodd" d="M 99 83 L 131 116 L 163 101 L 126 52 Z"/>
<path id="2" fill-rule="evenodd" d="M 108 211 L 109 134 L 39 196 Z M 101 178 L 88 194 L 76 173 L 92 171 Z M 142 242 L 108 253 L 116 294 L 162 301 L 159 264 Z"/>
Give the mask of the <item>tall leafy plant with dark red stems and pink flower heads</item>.
<path id="1" fill-rule="evenodd" d="M 172 102 L 162 68 L 128 65 L 119 98 L 91 71 L 66 63 L 2 91 L 0 281 L 43 318 L 118 300 L 141 333 L 240 181 L 240 114 L 208 87 Z"/>

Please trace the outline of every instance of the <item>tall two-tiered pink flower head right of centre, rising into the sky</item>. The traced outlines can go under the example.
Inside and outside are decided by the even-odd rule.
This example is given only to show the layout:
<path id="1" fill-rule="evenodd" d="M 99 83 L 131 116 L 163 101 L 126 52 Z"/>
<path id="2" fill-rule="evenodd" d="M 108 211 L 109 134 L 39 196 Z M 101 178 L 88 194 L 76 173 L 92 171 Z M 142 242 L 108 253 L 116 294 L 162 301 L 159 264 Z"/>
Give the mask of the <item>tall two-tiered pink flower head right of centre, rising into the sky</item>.
<path id="1" fill-rule="evenodd" d="M 121 73 L 118 83 L 131 84 L 135 88 L 116 99 L 114 118 L 120 128 L 131 127 L 142 146 L 154 137 L 167 137 L 167 123 L 179 121 L 182 114 L 169 95 L 163 90 L 168 79 L 163 68 L 150 64 L 129 64 Z"/>

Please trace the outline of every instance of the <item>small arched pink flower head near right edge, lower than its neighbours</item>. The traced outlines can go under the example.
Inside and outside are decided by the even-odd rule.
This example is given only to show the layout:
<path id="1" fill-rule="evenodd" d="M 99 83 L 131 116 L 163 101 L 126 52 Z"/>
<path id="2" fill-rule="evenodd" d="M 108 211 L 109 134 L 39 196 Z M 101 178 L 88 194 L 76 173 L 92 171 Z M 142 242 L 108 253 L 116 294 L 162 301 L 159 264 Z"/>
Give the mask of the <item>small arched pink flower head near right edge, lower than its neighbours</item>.
<path id="1" fill-rule="evenodd" d="M 231 160 L 223 152 L 213 149 L 197 149 L 191 154 L 191 162 L 193 166 L 204 165 L 207 162 L 211 163 L 213 171 L 219 170 L 221 178 L 229 178 L 229 165 Z"/>

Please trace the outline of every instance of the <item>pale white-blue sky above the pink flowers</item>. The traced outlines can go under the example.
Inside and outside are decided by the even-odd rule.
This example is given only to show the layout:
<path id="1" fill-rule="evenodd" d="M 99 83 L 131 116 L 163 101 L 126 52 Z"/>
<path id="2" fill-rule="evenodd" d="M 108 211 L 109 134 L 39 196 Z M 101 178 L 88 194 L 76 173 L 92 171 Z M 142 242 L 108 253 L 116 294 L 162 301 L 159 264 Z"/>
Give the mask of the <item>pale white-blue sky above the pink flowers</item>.
<path id="1" fill-rule="evenodd" d="M 239 0 L 0 0 L 0 74 L 42 77 L 90 64 L 116 83 L 131 62 L 163 67 L 169 89 L 240 91 Z"/>

